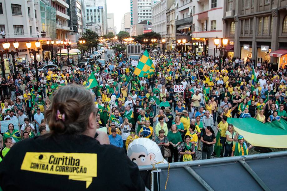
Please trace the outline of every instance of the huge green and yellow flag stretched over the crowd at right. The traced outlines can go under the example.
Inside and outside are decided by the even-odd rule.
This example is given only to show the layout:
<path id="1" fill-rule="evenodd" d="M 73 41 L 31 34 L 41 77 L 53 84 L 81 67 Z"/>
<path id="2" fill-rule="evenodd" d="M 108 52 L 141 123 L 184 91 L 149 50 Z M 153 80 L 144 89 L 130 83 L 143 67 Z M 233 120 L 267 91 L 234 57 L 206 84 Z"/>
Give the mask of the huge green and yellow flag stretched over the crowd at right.
<path id="1" fill-rule="evenodd" d="M 227 122 L 253 146 L 287 148 L 287 122 L 284 119 L 262 123 L 254 118 L 228 118 Z"/>

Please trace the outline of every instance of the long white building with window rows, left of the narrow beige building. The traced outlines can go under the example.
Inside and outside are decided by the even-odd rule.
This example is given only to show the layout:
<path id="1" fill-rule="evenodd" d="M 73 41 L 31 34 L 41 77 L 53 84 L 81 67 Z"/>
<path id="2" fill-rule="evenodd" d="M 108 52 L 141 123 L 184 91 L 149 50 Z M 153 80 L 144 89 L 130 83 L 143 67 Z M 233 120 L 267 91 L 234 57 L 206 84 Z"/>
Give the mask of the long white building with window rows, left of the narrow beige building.
<path id="1" fill-rule="evenodd" d="M 165 38 L 167 34 L 167 1 L 173 0 L 160 0 L 152 3 L 152 31 L 157 32 L 162 38 Z M 163 48 L 163 44 L 159 43 L 160 48 Z"/>

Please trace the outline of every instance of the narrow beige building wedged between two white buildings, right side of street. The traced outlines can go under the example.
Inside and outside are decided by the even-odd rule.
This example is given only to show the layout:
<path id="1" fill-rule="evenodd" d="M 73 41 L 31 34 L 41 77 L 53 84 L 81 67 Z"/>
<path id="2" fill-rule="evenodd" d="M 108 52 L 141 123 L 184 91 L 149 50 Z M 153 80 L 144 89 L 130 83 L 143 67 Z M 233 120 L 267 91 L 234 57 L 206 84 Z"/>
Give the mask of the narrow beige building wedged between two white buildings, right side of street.
<path id="1" fill-rule="evenodd" d="M 165 35 L 165 48 L 170 51 L 175 49 L 176 41 L 175 41 L 175 1 L 167 2 L 167 10 L 166 10 L 166 30 L 167 34 Z"/>

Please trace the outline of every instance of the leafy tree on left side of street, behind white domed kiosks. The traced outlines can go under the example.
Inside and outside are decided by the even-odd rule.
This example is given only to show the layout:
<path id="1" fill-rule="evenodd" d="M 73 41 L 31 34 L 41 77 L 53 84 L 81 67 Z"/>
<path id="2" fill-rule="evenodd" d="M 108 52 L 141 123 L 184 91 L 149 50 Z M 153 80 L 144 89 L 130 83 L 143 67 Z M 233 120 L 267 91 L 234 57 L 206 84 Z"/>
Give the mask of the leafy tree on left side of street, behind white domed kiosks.
<path id="1" fill-rule="evenodd" d="M 86 42 L 84 44 L 80 44 L 80 40 L 85 40 Z M 99 42 L 99 35 L 94 31 L 87 29 L 86 32 L 82 34 L 82 37 L 79 38 L 78 48 L 84 51 L 91 50 L 92 52 L 92 49 L 95 49 Z"/>

